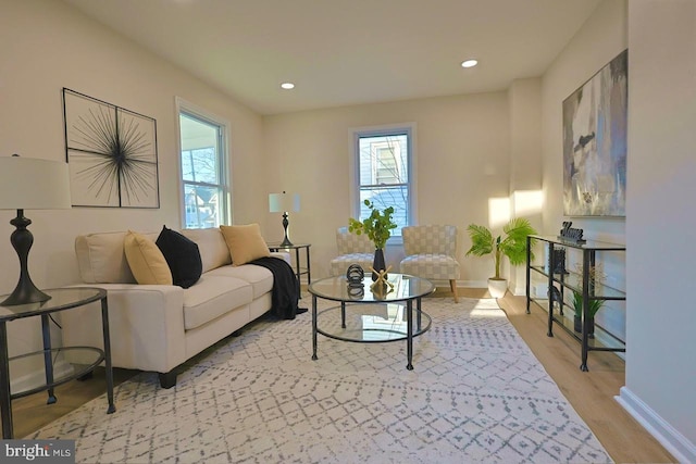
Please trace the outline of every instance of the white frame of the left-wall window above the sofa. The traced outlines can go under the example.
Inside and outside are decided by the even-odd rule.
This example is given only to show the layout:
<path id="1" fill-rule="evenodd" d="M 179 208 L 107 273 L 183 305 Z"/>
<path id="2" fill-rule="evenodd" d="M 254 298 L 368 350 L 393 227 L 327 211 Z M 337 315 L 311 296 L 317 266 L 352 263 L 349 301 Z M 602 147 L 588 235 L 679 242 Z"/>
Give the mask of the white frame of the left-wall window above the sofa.
<path id="1" fill-rule="evenodd" d="M 219 170 L 220 170 L 220 184 L 222 189 L 222 205 L 220 211 L 222 216 L 220 218 L 221 224 L 233 224 L 232 215 L 232 173 L 229 171 L 229 122 L 223 117 L 220 117 L 189 101 L 184 100 L 181 97 L 175 97 L 175 110 L 176 110 L 176 167 L 178 173 L 178 192 L 179 192 L 179 224 L 182 228 L 186 227 L 186 192 L 184 190 L 184 173 L 182 170 L 182 126 L 181 114 L 186 113 L 196 118 L 199 118 L 206 123 L 210 123 L 220 127 L 220 140 L 219 140 Z"/>

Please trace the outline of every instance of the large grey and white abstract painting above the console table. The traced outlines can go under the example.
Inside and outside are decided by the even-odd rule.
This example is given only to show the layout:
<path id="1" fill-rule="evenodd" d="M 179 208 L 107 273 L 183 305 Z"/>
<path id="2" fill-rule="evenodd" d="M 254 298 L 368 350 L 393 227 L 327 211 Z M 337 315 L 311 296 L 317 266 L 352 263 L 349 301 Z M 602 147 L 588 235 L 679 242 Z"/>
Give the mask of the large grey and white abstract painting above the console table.
<path id="1" fill-rule="evenodd" d="M 563 214 L 625 217 L 629 51 L 563 100 Z"/>

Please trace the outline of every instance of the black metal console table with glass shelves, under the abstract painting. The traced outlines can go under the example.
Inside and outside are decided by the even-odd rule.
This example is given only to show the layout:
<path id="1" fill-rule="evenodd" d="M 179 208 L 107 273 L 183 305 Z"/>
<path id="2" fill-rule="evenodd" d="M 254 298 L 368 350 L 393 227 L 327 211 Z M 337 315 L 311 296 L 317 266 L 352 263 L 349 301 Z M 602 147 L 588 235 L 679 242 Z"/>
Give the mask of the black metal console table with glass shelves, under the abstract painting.
<path id="1" fill-rule="evenodd" d="M 537 240 L 546 243 L 548 250 L 547 266 L 535 265 L 531 260 L 532 240 Z M 564 264 L 559 266 L 555 262 L 554 250 L 563 248 L 566 250 L 576 250 L 582 253 L 581 267 L 582 271 L 570 272 L 564 268 Z M 598 252 L 625 252 L 625 246 L 607 243 L 596 240 L 586 240 L 577 243 L 572 240 L 564 240 L 555 236 L 539 236 L 531 235 L 526 239 L 526 313 L 530 314 L 530 303 L 534 301 L 542 309 L 548 312 L 548 336 L 554 336 L 554 324 L 559 325 L 576 340 L 580 341 L 582 347 L 582 362 L 580 368 L 583 372 L 587 372 L 587 353 L 589 351 L 619 351 L 625 352 L 625 341 L 619 339 L 608 330 L 604 330 L 597 327 L 598 331 L 601 331 L 602 339 L 591 338 L 591 316 L 589 304 L 592 301 L 601 300 L 617 300 L 625 301 L 626 294 L 622 290 L 604 285 L 595 279 L 594 274 L 591 273 L 591 268 L 594 268 L 596 263 L 596 255 Z M 549 293 L 547 296 L 532 296 L 530 291 L 530 284 L 534 276 L 543 276 L 546 280 Z M 563 316 L 563 308 L 569 306 L 563 298 L 564 290 L 569 289 L 576 292 L 583 298 L 582 309 L 582 331 L 577 334 L 574 328 L 573 321 L 569 321 Z M 558 303 L 558 314 L 554 313 L 554 303 Z"/>

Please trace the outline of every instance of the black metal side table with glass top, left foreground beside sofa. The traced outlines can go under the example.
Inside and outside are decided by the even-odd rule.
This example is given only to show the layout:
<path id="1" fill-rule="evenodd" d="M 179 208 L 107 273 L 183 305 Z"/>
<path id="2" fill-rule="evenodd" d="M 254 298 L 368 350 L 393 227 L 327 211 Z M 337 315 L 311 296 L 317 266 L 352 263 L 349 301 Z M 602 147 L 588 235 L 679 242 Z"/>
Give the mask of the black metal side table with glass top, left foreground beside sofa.
<path id="1" fill-rule="evenodd" d="M 109 401 L 108 414 L 116 411 L 113 403 L 113 371 L 111 367 L 111 342 L 109 339 L 109 304 L 107 302 L 107 290 L 94 287 L 72 287 L 42 290 L 51 297 L 50 300 L 40 303 L 17 304 L 14 306 L 0 305 L 0 410 L 2 419 L 2 438 L 13 438 L 12 427 L 12 400 L 26 397 L 39 391 L 48 391 L 47 404 L 52 404 L 57 400 L 53 389 L 70 380 L 80 378 L 91 373 L 103 361 L 107 368 L 107 397 Z M 0 297 L 0 301 L 4 297 Z M 96 347 L 63 347 L 51 348 L 50 314 L 60 311 L 67 311 L 95 301 L 101 301 L 101 321 L 104 340 L 104 349 Z M 9 358 L 8 355 L 8 326 L 14 319 L 25 317 L 41 317 L 41 331 L 44 335 L 44 350 Z M 88 364 L 73 365 L 74 371 L 70 375 L 61 378 L 53 377 L 52 355 L 58 352 L 78 351 L 80 354 L 88 354 Z M 33 356 L 41 356 L 46 368 L 46 383 L 36 388 L 24 391 L 10 391 L 10 363 L 15 360 L 26 360 Z"/>

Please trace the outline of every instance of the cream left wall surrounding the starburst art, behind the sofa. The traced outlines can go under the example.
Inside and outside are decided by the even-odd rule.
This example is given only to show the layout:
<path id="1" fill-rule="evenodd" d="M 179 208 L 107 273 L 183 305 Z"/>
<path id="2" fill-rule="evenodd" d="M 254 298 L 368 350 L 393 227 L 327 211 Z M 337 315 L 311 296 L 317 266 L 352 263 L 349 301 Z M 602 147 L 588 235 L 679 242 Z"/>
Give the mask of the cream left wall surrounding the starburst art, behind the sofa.
<path id="1" fill-rule="evenodd" d="M 38 287 L 78 281 L 73 243 L 79 234 L 178 227 L 175 96 L 232 124 L 235 220 L 251 222 L 266 208 L 257 180 L 263 178 L 259 115 L 63 2 L 0 0 L 0 155 L 65 159 L 63 87 L 157 120 L 161 208 L 26 211 L 35 238 L 29 269 Z M 10 246 L 14 215 L 0 211 L 0 294 L 12 291 L 18 277 Z M 10 323 L 10 354 L 40 347 L 39 327 L 38 321 Z M 13 379 L 23 375 L 13 366 Z"/>

